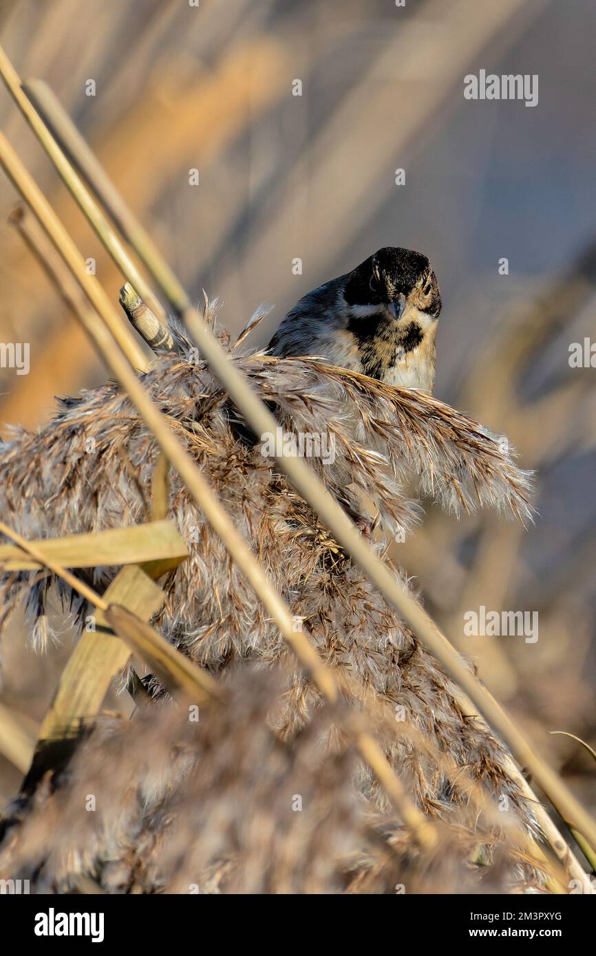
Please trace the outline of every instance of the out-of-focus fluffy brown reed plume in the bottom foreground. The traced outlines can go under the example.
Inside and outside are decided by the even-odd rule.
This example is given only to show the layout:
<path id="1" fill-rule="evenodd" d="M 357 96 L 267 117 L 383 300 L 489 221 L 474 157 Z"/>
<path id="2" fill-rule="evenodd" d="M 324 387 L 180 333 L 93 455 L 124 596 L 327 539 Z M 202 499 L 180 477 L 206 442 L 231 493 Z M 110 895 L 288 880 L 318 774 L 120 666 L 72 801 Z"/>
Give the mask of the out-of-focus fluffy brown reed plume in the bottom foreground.
<path id="1" fill-rule="evenodd" d="M 227 683 L 229 706 L 198 723 L 169 706 L 99 723 L 58 789 L 46 782 L 13 809 L 0 870 L 42 893 L 88 876 L 116 893 L 475 893 L 519 878 L 522 855 L 502 845 L 490 866 L 470 863 L 470 821 L 442 824 L 440 847 L 422 854 L 355 789 L 354 751 L 321 748 L 328 711 L 291 745 L 277 740 L 266 719 L 280 674 Z"/>

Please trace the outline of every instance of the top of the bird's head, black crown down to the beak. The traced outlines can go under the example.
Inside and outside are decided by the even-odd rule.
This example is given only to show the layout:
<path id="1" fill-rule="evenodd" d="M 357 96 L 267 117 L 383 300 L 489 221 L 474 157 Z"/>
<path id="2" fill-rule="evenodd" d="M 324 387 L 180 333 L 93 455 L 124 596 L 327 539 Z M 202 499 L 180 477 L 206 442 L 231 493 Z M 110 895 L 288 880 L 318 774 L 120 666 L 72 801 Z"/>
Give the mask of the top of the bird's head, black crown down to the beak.
<path id="1" fill-rule="evenodd" d="M 390 304 L 399 295 L 421 312 L 438 318 L 439 284 L 422 252 L 386 246 L 349 273 L 343 291 L 351 306 Z"/>

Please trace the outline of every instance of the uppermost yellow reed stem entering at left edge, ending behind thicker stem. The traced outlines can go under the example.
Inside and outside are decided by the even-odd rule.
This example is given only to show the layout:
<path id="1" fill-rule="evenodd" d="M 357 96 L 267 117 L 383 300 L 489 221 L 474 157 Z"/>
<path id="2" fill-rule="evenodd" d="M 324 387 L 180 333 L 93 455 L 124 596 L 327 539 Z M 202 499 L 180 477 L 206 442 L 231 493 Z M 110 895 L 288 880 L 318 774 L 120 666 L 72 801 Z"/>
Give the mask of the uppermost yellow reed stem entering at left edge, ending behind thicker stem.
<path id="1" fill-rule="evenodd" d="M 146 282 L 146 280 L 143 278 L 143 275 L 141 272 L 139 272 L 134 262 L 122 246 L 120 239 L 114 232 L 113 228 L 111 228 L 110 224 L 99 209 L 99 206 L 96 204 L 89 191 L 80 182 L 77 173 L 73 169 L 72 165 L 68 162 L 66 156 L 58 146 L 48 127 L 45 125 L 43 120 L 41 120 L 33 106 L 33 103 L 31 103 L 26 97 L 21 85 L 20 77 L 16 73 L 16 70 L 12 66 L 9 57 L 1 46 L 0 76 L 2 76 L 4 83 L 11 94 L 11 97 L 14 99 L 21 113 L 31 126 L 33 133 L 45 149 L 52 163 L 54 163 L 55 169 L 62 182 L 64 185 L 66 185 L 67 189 L 73 196 L 73 199 L 77 203 L 77 206 L 79 206 L 88 222 L 95 229 L 99 240 L 109 252 L 118 268 L 127 278 L 130 277 L 135 289 L 138 289 L 139 293 L 143 296 L 143 299 L 151 304 L 154 312 L 157 311 L 160 313 L 163 311 L 162 306 L 159 304 L 157 297 L 152 292 L 148 282 Z"/>

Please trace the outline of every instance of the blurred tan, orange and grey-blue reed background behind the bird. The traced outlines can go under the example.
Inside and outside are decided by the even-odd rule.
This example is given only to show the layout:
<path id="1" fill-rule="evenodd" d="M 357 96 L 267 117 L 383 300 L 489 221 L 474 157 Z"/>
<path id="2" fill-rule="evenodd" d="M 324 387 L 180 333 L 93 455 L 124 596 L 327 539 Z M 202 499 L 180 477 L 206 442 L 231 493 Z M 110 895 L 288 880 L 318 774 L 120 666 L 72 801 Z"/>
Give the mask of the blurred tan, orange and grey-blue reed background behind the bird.
<path id="1" fill-rule="evenodd" d="M 592 369 L 568 365 L 596 313 L 594 5 L 5 0 L 0 11 L 21 76 L 50 84 L 174 271 L 197 299 L 220 296 L 233 332 L 275 303 L 255 333 L 264 343 L 300 295 L 379 247 L 430 256 L 444 301 L 435 394 L 509 436 L 537 469 L 540 513 L 523 532 L 430 508 L 396 556 L 523 728 L 596 746 L 596 391 Z M 538 106 L 464 100 L 463 77 L 480 68 L 538 74 Z M 0 94 L 2 128 L 116 301 L 120 273 Z M 105 377 L 8 224 L 14 199 L 1 178 L 0 339 L 30 341 L 32 364 L 28 376 L 1 371 L 3 435 Z M 465 637 L 463 615 L 480 605 L 537 611 L 539 640 Z M 33 732 L 64 638 L 34 658 L 17 622 L 8 643 L 1 699 Z M 593 760 L 549 739 L 555 769 L 594 807 Z M 1 760 L 0 796 L 19 780 Z"/>

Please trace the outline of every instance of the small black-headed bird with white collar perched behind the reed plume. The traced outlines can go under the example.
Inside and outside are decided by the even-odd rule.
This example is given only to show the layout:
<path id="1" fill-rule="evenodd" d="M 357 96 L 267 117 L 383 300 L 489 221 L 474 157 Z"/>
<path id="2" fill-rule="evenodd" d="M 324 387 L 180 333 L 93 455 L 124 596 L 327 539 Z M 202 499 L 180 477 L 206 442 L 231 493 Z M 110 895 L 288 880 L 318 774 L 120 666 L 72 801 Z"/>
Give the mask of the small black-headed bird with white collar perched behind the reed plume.
<path id="1" fill-rule="evenodd" d="M 387 246 L 303 295 L 268 347 L 280 358 L 320 356 L 387 385 L 431 392 L 440 311 L 426 255 Z"/>

